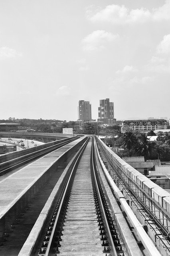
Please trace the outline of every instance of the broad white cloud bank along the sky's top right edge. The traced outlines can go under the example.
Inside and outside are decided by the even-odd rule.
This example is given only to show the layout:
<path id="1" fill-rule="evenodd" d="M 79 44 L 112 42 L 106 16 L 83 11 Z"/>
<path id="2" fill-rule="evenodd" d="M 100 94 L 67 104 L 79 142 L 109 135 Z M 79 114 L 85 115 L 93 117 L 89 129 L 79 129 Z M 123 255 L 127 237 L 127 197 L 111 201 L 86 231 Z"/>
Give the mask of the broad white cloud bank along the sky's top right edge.
<path id="1" fill-rule="evenodd" d="M 124 5 L 111 4 L 104 9 L 97 8 L 93 11 L 92 6 L 86 11 L 87 18 L 93 22 L 112 22 L 118 24 L 133 22 L 148 22 L 170 20 L 170 0 L 166 0 L 165 4 L 159 8 L 153 8 L 151 11 L 146 8 L 129 10 Z"/>

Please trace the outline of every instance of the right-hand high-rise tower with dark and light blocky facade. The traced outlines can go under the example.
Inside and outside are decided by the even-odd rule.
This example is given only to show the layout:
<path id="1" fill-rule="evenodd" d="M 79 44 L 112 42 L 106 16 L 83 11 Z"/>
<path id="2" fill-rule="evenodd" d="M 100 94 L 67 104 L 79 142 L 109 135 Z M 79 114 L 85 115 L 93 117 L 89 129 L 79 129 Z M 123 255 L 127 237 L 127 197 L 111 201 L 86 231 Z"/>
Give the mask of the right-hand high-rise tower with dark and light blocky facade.
<path id="1" fill-rule="evenodd" d="M 104 124 L 114 123 L 114 103 L 109 102 L 109 98 L 100 100 L 100 106 L 98 108 L 98 121 L 104 122 Z"/>

